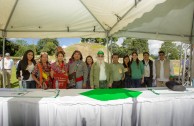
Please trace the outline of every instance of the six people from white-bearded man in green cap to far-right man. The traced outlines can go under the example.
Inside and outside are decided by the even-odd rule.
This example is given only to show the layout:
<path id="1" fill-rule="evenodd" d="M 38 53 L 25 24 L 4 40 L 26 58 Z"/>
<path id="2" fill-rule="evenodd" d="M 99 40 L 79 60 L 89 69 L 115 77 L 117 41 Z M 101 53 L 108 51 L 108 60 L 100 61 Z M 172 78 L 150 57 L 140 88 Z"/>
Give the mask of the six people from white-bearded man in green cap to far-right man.
<path id="1" fill-rule="evenodd" d="M 138 59 L 137 52 L 123 57 L 123 64 L 119 63 L 119 55 L 112 55 L 112 63 L 104 62 L 104 53 L 97 53 L 95 62 L 90 71 L 91 88 L 139 88 L 152 87 L 156 82 L 157 87 L 166 86 L 165 83 L 172 79 L 174 70 L 172 63 L 165 59 L 165 52 L 159 51 L 159 58 L 154 62 L 149 58 L 149 53 L 143 53 L 143 60 Z"/>

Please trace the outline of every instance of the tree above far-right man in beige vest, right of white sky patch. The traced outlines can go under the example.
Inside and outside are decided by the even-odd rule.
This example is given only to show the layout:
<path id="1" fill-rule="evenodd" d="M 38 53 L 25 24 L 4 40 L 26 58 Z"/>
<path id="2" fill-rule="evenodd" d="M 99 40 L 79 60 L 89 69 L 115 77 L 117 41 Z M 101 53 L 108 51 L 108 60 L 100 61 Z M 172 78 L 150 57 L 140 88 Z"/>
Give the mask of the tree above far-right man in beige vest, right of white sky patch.
<path id="1" fill-rule="evenodd" d="M 165 52 L 167 59 L 177 60 L 179 59 L 180 48 L 181 47 L 177 46 L 175 43 L 171 41 L 166 41 L 162 44 L 160 50 Z"/>

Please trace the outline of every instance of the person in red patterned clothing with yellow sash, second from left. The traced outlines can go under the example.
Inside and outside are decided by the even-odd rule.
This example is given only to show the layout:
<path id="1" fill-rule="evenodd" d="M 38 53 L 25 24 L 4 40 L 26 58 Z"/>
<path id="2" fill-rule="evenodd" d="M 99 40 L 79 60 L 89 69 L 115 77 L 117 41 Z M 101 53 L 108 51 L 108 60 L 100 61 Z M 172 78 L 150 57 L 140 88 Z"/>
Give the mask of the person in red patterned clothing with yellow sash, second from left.
<path id="1" fill-rule="evenodd" d="M 32 72 L 32 78 L 36 81 L 37 88 L 52 88 L 50 72 L 51 65 L 48 62 L 48 54 L 42 52 L 40 54 L 40 62 L 36 64 Z"/>

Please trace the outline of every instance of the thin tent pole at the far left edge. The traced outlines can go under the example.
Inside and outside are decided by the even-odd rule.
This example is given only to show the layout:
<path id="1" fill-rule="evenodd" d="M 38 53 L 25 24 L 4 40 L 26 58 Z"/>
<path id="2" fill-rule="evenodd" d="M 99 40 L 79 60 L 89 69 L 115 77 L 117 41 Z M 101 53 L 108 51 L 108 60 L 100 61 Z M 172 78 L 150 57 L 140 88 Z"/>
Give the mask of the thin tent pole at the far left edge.
<path id="1" fill-rule="evenodd" d="M 2 71 L 3 71 L 3 88 L 5 88 L 5 68 L 4 68 L 4 59 L 5 59 L 5 38 L 6 38 L 6 32 L 2 32 L 3 36 L 3 59 L 2 59 Z"/>

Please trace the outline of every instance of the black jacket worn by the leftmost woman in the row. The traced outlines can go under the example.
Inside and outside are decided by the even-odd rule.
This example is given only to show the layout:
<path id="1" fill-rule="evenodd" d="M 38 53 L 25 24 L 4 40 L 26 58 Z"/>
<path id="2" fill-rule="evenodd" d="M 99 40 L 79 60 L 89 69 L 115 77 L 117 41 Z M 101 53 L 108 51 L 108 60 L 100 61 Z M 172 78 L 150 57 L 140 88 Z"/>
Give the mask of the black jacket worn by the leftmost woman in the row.
<path id="1" fill-rule="evenodd" d="M 36 61 L 33 61 L 34 66 L 36 65 Z M 26 70 L 26 68 L 24 67 L 24 63 L 22 62 L 22 60 L 19 62 L 17 70 L 16 70 L 16 78 L 21 77 L 20 75 L 20 71 L 22 71 L 22 76 L 23 76 L 23 80 L 28 80 L 28 78 L 30 77 L 30 72 L 28 70 Z"/>

